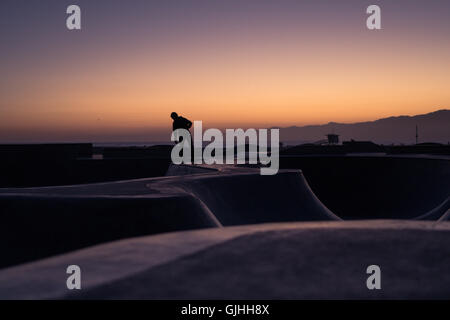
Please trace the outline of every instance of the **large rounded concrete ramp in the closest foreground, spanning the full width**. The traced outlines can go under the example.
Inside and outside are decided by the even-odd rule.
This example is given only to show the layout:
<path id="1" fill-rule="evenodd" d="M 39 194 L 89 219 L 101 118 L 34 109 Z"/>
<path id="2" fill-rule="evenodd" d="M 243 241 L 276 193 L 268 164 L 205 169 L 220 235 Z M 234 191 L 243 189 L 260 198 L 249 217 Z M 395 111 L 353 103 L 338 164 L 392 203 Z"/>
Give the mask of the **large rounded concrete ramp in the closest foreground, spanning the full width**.
<path id="1" fill-rule="evenodd" d="M 0 270 L 4 299 L 449 299 L 450 223 L 260 224 L 133 238 Z M 417 245 L 420 243 L 420 245 Z M 432 263 L 430 263 L 432 262 Z M 77 264 L 82 290 L 66 288 Z M 382 290 L 366 287 L 367 267 Z"/>

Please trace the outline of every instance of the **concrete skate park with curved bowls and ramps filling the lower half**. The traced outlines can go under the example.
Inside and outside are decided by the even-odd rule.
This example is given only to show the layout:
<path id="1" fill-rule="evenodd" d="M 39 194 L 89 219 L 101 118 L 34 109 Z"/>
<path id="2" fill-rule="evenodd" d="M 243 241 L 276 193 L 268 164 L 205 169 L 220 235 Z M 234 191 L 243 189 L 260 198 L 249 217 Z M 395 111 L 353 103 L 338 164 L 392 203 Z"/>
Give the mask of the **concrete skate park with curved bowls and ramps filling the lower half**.
<path id="1" fill-rule="evenodd" d="M 176 292 L 173 298 L 205 298 L 209 288 L 225 284 L 202 277 L 208 277 L 208 272 L 229 277 L 230 271 L 220 266 L 234 268 L 237 255 L 248 264 L 244 269 L 263 263 L 267 273 L 240 272 L 235 277 L 245 284 L 242 291 L 227 287 L 209 297 L 371 298 L 351 283 L 338 291 L 332 289 L 341 286 L 338 283 L 331 282 L 331 287 L 322 284 L 324 289 L 319 292 L 311 282 L 294 293 L 295 281 L 306 278 L 292 282 L 289 274 L 279 279 L 279 292 L 272 290 L 276 283 L 268 283 L 257 291 L 259 294 L 252 288 L 254 281 L 276 278 L 279 272 L 284 275 L 288 271 L 282 266 L 290 263 L 296 266 L 310 261 L 314 267 L 303 266 L 302 272 L 309 268 L 326 274 L 337 272 L 338 266 L 325 257 L 349 260 L 347 246 L 357 247 L 359 258 L 353 263 L 362 265 L 369 252 L 375 252 L 385 265 L 395 266 L 395 273 L 406 266 L 405 260 L 396 260 L 402 252 L 417 260 L 409 274 L 428 274 L 424 256 L 448 256 L 450 161 L 445 157 L 290 156 L 281 157 L 280 165 L 274 176 L 262 176 L 257 168 L 247 166 L 169 165 L 160 177 L 3 188 L 0 288 L 8 289 L 1 289 L 1 294 L 76 299 L 77 295 L 61 290 L 49 290 L 42 296 L 38 291 L 42 292 L 42 277 L 50 287 L 56 286 L 59 280 L 52 268 L 80 259 L 96 272 L 103 268 L 109 271 L 104 276 L 94 273 L 88 281 L 90 289 L 79 298 L 165 299 L 172 290 Z M 368 181 L 362 181 L 362 172 Z M 184 241 L 185 237 L 192 243 Z M 413 249 L 416 241 L 424 241 L 419 249 Z M 393 247 L 385 252 L 383 248 L 389 245 Z M 249 250 L 249 261 L 241 250 Z M 260 250 L 254 256 L 251 253 Z M 313 257 L 315 250 L 322 258 Z M 96 258 L 100 251 L 111 252 L 101 255 L 104 262 Z M 279 255 L 281 260 L 267 260 L 264 254 Z M 118 262 L 109 263 L 108 259 Z M 222 262 L 218 265 L 217 261 Z M 184 263 L 187 265 L 180 267 Z M 443 258 L 436 267 L 439 274 L 447 268 L 446 263 Z M 165 279 L 158 275 L 161 268 L 173 269 L 176 276 Z M 181 280 L 189 268 L 206 268 L 206 274 L 192 271 L 195 276 L 189 280 L 202 279 L 202 285 L 195 287 Z M 32 270 L 40 270 L 40 276 L 33 276 L 36 272 Z M 36 290 L 25 294 L 18 289 L 14 282 L 18 277 Z M 324 281 L 317 277 L 317 281 Z M 411 297 L 448 297 L 449 286 L 442 285 L 450 281 L 448 276 L 432 278 L 427 288 L 422 288 L 425 291 Z M 414 283 L 398 281 L 386 298 L 409 297 Z M 155 289 L 143 292 L 142 283 L 155 283 Z M 169 289 L 157 289 L 162 287 Z"/>

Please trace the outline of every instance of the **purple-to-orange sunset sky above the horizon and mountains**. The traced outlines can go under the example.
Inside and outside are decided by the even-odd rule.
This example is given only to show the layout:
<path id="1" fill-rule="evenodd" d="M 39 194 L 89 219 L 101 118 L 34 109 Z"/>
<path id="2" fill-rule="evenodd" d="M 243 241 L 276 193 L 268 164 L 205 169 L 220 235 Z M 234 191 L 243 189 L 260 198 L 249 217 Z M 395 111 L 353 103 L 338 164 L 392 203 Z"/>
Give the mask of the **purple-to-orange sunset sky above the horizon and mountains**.
<path id="1" fill-rule="evenodd" d="M 0 143 L 168 140 L 172 111 L 264 128 L 448 109 L 449 36 L 448 0 L 2 0 Z"/>

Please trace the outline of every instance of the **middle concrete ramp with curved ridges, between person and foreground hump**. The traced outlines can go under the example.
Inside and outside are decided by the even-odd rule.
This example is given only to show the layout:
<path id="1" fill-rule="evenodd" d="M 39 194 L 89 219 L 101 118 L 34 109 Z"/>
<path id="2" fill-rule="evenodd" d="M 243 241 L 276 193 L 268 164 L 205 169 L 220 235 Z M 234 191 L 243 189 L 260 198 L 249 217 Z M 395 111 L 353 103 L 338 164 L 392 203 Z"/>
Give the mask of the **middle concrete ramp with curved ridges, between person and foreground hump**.
<path id="1" fill-rule="evenodd" d="M 299 171 L 261 176 L 248 168 L 208 170 L 2 192 L 0 268 L 133 236 L 222 225 L 339 220 L 314 196 Z"/>

